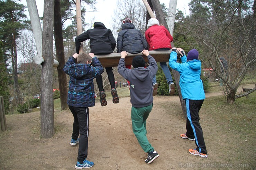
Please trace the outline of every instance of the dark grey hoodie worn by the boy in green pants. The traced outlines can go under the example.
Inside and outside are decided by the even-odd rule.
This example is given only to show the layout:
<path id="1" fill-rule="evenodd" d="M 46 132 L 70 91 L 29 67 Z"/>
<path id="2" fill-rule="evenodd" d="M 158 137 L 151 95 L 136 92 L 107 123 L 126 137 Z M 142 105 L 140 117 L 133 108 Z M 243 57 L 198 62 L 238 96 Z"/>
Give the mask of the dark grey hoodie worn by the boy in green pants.
<path id="1" fill-rule="evenodd" d="M 153 103 L 152 80 L 157 72 L 155 59 L 148 55 L 149 66 L 135 69 L 125 68 L 125 59 L 121 58 L 118 64 L 118 72 L 130 82 L 130 97 L 133 107 L 142 108 Z"/>

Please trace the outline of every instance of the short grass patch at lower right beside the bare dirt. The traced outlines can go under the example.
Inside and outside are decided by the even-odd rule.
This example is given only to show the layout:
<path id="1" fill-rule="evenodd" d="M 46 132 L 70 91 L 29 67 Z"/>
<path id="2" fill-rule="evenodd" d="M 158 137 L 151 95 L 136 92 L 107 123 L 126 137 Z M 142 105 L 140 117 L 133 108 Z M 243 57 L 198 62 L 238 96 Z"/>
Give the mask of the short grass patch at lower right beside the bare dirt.
<path id="1" fill-rule="evenodd" d="M 255 167 L 255 100 L 256 93 L 250 98 L 239 98 L 234 105 L 227 105 L 223 96 L 209 97 L 204 100 L 199 112 L 200 123 L 209 152 L 225 153 L 232 157 L 223 157 L 229 163 L 246 163 L 250 169 Z M 217 154 L 217 153 L 215 153 Z M 220 155 L 221 157 L 221 155 Z"/>

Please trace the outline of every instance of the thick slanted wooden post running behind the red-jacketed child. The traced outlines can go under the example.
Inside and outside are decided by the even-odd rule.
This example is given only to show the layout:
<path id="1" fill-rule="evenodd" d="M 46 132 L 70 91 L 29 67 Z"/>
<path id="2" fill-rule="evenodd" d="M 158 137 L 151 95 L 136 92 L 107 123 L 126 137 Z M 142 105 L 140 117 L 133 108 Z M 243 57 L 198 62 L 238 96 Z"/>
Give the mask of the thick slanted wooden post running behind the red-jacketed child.
<path id="1" fill-rule="evenodd" d="M 161 4 L 160 4 L 159 0 L 151 0 L 151 2 L 152 2 L 153 8 L 154 8 L 155 13 L 156 13 L 156 18 L 159 21 L 159 24 L 163 24 L 164 27 L 167 30 L 169 30 L 169 27 L 168 27 L 167 22 L 164 18 L 164 13 L 163 13 L 163 10 L 162 10 L 162 7 L 161 7 Z M 171 42 L 171 45 L 172 45 L 172 47 L 174 47 L 173 42 Z M 179 84 L 179 82 L 180 82 L 180 73 L 173 70 L 173 69 L 172 69 L 172 73 L 173 73 L 174 80 L 175 80 L 175 83 L 176 83 L 177 91 L 179 93 L 181 108 L 182 108 L 184 117 L 186 117 L 186 102 L 185 102 L 185 100 L 182 99 L 181 88 L 180 88 L 180 84 Z"/>

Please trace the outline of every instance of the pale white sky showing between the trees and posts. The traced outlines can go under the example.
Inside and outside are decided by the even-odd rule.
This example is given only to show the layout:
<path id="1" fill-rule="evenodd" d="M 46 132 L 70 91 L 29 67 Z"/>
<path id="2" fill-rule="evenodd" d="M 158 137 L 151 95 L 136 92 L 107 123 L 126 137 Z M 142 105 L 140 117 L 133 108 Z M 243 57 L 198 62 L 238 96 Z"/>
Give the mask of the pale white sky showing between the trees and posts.
<path id="1" fill-rule="evenodd" d="M 166 7 L 169 8 L 170 0 L 159 0 L 160 3 L 165 3 Z M 183 13 L 189 12 L 188 3 L 191 0 L 177 0 L 177 9 L 183 11 Z M 110 3 L 111 2 L 111 3 Z M 141 0 L 142 2 L 142 0 Z M 27 6 L 26 0 L 21 0 L 21 3 L 25 4 Z M 44 12 L 44 0 L 36 0 L 37 9 L 39 17 L 43 17 Z M 117 0 L 97 0 L 97 4 L 95 4 L 96 11 L 91 12 L 88 10 L 88 12 L 85 13 L 85 18 L 87 23 L 91 23 L 92 21 L 98 21 L 104 23 L 104 25 L 107 28 L 111 29 L 111 22 L 112 17 L 114 16 L 114 10 L 116 8 Z M 25 12 L 25 14 L 29 18 L 28 11 Z M 111 22 L 106 22 L 111 21 Z M 66 23 L 67 26 L 68 23 Z"/>

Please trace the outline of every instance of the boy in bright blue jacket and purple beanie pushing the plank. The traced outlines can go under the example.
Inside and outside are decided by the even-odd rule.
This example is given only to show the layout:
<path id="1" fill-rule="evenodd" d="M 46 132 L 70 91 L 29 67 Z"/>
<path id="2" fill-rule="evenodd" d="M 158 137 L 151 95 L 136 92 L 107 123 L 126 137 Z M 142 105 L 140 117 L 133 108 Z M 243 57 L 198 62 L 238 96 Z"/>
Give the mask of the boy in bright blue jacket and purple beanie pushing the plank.
<path id="1" fill-rule="evenodd" d="M 177 53 L 181 55 L 181 62 L 177 62 Z M 172 48 L 169 66 L 180 73 L 180 87 L 182 98 L 186 101 L 186 133 L 181 138 L 195 140 L 196 148 L 189 149 L 189 153 L 202 158 L 207 157 L 204 143 L 203 131 L 199 123 L 199 110 L 205 99 L 203 82 L 200 79 L 201 61 L 198 60 L 199 53 L 192 49 L 185 56 L 181 48 Z"/>

